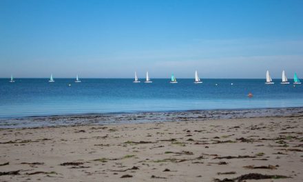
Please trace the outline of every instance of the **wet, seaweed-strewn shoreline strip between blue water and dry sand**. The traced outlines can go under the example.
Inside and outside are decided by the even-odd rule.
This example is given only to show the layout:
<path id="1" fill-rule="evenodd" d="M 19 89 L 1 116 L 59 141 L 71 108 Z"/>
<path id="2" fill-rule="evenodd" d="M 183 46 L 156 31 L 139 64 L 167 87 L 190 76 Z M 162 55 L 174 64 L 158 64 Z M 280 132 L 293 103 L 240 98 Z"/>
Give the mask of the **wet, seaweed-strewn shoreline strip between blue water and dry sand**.
<path id="1" fill-rule="evenodd" d="M 258 108 L 238 110 L 186 110 L 169 112 L 119 112 L 107 114 L 63 114 L 0 119 L 0 129 L 36 128 L 56 125 L 104 125 L 117 123 L 149 123 L 155 121 L 205 121 L 209 119 L 241 119 L 258 117 L 300 116 L 303 107 Z"/>

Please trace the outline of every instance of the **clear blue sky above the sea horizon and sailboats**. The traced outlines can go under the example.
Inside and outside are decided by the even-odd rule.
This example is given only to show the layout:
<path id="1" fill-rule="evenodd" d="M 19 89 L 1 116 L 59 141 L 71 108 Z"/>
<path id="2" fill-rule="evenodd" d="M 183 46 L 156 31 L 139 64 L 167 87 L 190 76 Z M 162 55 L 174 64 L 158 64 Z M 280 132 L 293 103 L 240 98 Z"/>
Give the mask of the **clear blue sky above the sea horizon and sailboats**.
<path id="1" fill-rule="evenodd" d="M 0 0 L 0 77 L 303 78 L 303 1 Z"/>

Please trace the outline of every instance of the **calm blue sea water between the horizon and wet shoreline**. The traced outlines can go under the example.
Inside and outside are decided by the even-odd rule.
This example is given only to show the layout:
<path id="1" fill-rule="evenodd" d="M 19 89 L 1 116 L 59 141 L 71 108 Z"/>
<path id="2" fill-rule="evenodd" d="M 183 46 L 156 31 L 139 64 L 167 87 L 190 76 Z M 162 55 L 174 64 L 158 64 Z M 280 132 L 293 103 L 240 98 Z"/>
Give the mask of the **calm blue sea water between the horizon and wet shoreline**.
<path id="1" fill-rule="evenodd" d="M 0 117 L 303 106 L 303 85 L 264 79 L 0 79 Z M 72 85 L 68 87 L 68 83 Z M 215 84 L 218 85 L 215 85 Z M 233 83 L 233 85 L 231 85 Z M 292 81 L 291 81 L 292 83 Z M 249 99 L 247 94 L 253 93 Z"/>

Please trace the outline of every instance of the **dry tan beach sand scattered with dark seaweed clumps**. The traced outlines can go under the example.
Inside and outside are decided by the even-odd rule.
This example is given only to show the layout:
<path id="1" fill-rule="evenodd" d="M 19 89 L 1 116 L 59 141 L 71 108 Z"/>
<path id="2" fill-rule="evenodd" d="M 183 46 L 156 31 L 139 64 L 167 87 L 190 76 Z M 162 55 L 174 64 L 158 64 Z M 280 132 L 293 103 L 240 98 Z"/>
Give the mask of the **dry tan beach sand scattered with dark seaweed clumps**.
<path id="1" fill-rule="evenodd" d="M 280 176 L 258 181 L 303 181 L 302 121 L 296 115 L 0 129 L 0 181 L 237 181 L 260 174 Z"/>

